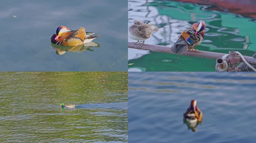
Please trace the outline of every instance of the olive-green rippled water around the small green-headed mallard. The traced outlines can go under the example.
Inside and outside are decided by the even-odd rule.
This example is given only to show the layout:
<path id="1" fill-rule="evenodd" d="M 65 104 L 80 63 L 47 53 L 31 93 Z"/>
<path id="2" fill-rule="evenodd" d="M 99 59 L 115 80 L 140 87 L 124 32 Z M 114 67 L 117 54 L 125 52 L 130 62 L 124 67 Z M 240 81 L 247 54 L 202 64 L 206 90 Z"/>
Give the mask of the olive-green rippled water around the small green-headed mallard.
<path id="1" fill-rule="evenodd" d="M 0 142 L 127 143 L 127 76 L 0 73 Z M 61 102 L 78 107 L 61 108 Z"/>

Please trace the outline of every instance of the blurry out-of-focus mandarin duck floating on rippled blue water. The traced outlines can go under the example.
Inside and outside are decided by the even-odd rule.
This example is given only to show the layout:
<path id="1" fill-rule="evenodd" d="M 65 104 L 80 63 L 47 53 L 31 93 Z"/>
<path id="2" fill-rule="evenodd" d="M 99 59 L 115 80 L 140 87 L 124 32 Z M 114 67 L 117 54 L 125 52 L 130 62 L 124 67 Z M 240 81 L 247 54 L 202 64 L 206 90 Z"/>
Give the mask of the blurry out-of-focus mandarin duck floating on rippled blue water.
<path id="1" fill-rule="evenodd" d="M 202 111 L 197 107 L 196 100 L 192 100 L 190 107 L 184 113 L 184 118 L 189 123 L 201 122 L 202 121 Z"/>

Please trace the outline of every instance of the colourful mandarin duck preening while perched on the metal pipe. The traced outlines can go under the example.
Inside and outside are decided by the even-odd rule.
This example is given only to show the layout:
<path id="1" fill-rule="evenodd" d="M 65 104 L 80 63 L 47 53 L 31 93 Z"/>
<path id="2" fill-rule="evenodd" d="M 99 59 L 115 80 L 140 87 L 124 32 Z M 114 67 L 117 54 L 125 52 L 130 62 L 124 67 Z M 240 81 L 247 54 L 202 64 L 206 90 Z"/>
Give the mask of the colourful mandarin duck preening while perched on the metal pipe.
<path id="1" fill-rule="evenodd" d="M 192 25 L 191 29 L 182 31 L 179 39 L 171 47 L 174 54 L 181 54 L 186 50 L 196 51 L 194 48 L 198 46 L 204 39 L 205 22 L 200 20 Z"/>

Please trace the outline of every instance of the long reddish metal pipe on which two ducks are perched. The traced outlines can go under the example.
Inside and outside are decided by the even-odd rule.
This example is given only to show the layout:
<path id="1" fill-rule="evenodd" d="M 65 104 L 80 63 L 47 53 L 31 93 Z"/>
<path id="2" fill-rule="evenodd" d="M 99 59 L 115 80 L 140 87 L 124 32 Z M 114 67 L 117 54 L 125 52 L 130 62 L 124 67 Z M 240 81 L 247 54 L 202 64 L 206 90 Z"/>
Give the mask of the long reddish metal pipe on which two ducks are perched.
<path id="1" fill-rule="evenodd" d="M 167 46 L 160 46 L 160 45 L 149 45 L 149 44 L 143 44 L 140 48 L 140 45 L 134 44 L 133 42 L 128 42 L 128 48 L 134 48 L 134 49 L 140 49 L 140 50 L 148 50 L 153 52 L 161 52 L 161 53 L 169 53 L 174 54 L 171 52 L 171 48 Z M 202 57 L 202 58 L 221 58 L 223 57 L 223 53 L 214 53 L 214 52 L 208 52 L 208 51 L 185 51 L 181 55 L 188 55 L 193 57 Z M 244 56 L 246 61 L 250 64 L 256 64 L 256 59 L 253 57 Z"/>

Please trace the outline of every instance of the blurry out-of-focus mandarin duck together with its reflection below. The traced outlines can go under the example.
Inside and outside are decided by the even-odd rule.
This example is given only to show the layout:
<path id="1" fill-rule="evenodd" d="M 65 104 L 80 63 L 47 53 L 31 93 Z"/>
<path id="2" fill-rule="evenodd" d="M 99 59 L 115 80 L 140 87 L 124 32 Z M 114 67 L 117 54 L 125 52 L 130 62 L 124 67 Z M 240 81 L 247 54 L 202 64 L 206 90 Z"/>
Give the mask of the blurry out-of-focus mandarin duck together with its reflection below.
<path id="1" fill-rule="evenodd" d="M 196 105 L 196 100 L 191 101 L 190 107 L 186 110 L 183 116 L 183 123 L 188 126 L 188 129 L 196 132 L 196 126 L 202 124 L 203 118 L 202 111 Z"/>

